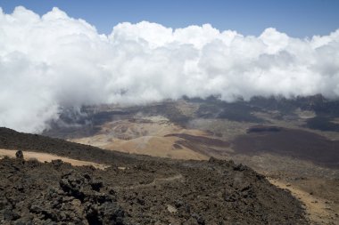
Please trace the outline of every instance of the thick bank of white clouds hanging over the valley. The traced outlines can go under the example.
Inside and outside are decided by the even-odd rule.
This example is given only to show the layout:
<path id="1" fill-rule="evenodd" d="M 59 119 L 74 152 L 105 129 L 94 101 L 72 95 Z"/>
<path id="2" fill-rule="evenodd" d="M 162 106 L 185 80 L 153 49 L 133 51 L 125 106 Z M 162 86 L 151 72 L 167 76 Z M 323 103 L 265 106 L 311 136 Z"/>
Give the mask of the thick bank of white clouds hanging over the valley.
<path id="1" fill-rule="evenodd" d="M 54 8 L 0 8 L 0 126 L 41 132 L 61 108 L 218 95 L 339 96 L 339 29 L 299 39 L 142 21 L 98 34 Z"/>

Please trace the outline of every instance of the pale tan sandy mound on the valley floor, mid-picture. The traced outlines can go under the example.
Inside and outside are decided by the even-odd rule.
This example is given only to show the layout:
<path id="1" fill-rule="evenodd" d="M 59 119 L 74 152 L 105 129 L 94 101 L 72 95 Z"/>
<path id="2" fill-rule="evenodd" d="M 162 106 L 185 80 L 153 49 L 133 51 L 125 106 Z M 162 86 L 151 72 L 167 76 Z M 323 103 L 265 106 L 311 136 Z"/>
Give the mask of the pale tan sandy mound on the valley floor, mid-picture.
<path id="1" fill-rule="evenodd" d="M 103 124 L 100 133 L 70 141 L 88 144 L 102 149 L 118 150 L 126 153 L 170 157 L 176 159 L 208 159 L 205 151 L 196 151 L 189 146 L 178 146 L 177 136 L 170 133 L 186 133 L 202 136 L 198 130 L 186 130 L 174 125 L 165 117 L 129 118 Z M 198 143 L 199 144 L 199 143 Z M 178 148 L 179 147 L 179 148 Z"/>

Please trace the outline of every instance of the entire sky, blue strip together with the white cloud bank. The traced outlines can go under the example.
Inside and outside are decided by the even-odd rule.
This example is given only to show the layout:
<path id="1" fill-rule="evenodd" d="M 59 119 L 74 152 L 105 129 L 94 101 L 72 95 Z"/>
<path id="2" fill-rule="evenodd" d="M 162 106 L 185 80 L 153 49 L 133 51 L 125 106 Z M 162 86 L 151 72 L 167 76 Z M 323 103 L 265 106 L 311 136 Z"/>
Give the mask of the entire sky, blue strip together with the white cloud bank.
<path id="1" fill-rule="evenodd" d="M 339 1 L 97 3 L 0 1 L 0 126 L 183 96 L 339 99 Z"/>

